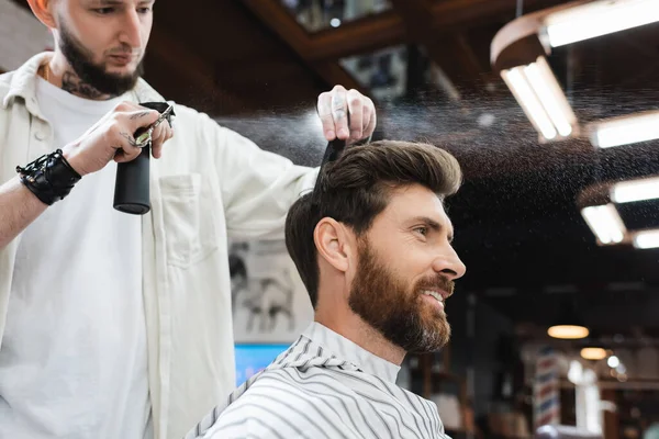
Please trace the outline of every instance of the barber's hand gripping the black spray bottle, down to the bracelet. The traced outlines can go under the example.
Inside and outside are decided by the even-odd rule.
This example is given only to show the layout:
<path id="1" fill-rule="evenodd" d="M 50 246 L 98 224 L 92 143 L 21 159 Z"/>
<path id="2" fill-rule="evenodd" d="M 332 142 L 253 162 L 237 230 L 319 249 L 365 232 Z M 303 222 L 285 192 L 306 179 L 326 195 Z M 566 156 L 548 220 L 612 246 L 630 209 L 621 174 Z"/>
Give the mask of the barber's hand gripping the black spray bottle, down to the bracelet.
<path id="1" fill-rule="evenodd" d="M 64 156 L 80 176 L 103 169 L 112 159 L 119 164 L 134 160 L 142 153 L 134 133 L 153 124 L 159 116 L 156 110 L 122 102 L 80 138 L 62 148 Z M 172 135 L 174 131 L 166 120 L 154 130 L 152 154 L 155 158 L 160 157 L 163 144 Z"/>

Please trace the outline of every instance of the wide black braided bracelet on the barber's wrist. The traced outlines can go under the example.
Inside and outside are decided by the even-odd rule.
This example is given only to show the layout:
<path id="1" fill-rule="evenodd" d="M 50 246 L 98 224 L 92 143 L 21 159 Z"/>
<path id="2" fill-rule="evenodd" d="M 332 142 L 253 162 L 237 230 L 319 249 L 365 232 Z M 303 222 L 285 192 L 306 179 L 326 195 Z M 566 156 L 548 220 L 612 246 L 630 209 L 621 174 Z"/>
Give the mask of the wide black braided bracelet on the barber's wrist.
<path id="1" fill-rule="evenodd" d="M 64 200 L 82 178 L 64 158 L 62 149 L 45 154 L 24 168 L 16 166 L 16 172 L 21 182 L 47 205 Z"/>

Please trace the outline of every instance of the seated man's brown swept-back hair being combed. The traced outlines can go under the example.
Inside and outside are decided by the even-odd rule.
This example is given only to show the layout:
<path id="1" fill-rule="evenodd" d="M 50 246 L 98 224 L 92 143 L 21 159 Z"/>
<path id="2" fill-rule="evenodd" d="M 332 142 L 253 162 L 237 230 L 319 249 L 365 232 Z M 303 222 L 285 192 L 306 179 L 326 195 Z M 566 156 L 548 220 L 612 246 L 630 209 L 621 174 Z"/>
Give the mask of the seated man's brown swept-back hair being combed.
<path id="1" fill-rule="evenodd" d="M 454 156 L 428 144 L 380 140 L 347 147 L 321 170 L 319 185 L 302 195 L 286 218 L 286 246 L 315 308 L 320 269 L 313 234 L 324 217 L 368 232 L 396 188 L 421 184 L 442 200 L 456 193 L 462 173 Z"/>

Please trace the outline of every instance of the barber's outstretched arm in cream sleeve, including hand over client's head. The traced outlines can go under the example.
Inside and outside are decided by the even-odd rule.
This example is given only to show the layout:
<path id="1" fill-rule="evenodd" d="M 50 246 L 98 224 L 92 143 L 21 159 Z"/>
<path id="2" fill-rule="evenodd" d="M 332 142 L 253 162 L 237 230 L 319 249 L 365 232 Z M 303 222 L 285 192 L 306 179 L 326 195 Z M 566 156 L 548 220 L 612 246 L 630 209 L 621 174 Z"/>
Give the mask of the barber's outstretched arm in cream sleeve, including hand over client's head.
<path id="1" fill-rule="evenodd" d="M 349 145 L 370 137 L 376 128 L 373 102 L 340 86 L 319 97 L 317 113 L 327 140 L 338 137 Z M 231 130 L 214 126 L 204 131 L 214 137 L 208 142 L 217 146 L 214 164 L 230 235 L 282 238 L 289 207 L 302 193 L 313 189 L 317 169 L 295 166 Z M 294 139 L 295 133 L 290 137 Z"/>

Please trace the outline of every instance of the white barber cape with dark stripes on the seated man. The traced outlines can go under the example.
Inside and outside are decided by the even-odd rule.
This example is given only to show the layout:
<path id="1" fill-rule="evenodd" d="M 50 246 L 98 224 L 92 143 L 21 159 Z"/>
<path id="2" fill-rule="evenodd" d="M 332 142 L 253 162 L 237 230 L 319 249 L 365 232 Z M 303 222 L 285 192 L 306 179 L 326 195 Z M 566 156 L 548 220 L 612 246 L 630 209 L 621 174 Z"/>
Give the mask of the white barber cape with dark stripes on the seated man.
<path id="1" fill-rule="evenodd" d="M 313 323 L 185 439 L 450 439 L 433 402 L 395 385 L 399 370 Z"/>

